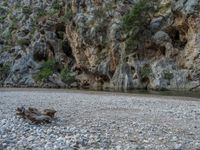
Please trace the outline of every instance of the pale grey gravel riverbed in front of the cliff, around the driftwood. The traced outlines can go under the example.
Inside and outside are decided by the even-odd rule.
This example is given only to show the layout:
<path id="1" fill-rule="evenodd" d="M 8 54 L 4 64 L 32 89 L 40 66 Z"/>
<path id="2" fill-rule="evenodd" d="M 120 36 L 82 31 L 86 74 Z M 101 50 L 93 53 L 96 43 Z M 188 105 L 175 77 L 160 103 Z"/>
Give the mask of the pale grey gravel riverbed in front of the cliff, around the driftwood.
<path id="1" fill-rule="evenodd" d="M 19 106 L 54 108 L 34 125 Z M 200 150 L 200 99 L 61 90 L 0 90 L 0 150 Z"/>

